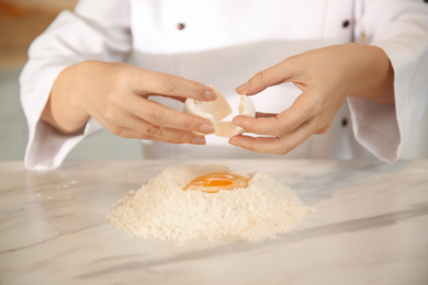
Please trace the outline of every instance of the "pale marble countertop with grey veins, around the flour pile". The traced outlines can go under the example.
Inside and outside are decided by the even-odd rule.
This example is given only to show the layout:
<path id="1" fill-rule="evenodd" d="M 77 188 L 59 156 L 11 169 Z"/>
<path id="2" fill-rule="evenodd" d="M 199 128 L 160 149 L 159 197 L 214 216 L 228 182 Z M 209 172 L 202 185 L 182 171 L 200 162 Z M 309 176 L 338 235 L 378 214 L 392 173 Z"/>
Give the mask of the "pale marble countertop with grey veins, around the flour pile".
<path id="1" fill-rule="evenodd" d="M 111 204 L 168 167 L 269 173 L 316 212 L 261 244 L 129 238 Z M 428 160 L 0 162 L 0 284 L 428 284 Z"/>

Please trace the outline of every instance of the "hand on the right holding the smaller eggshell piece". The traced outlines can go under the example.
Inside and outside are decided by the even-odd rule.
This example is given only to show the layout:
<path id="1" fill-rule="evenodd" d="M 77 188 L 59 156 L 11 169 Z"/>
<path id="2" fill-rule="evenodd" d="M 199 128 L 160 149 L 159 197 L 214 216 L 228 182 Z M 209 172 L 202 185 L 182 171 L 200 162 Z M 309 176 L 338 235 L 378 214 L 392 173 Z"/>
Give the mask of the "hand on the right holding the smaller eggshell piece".
<path id="1" fill-rule="evenodd" d="M 394 73 L 379 47 L 345 44 L 309 50 L 258 72 L 236 89 L 254 95 L 293 82 L 302 94 L 280 114 L 236 116 L 233 123 L 259 137 L 235 136 L 229 144 L 259 152 L 285 155 L 313 134 L 325 134 L 347 96 L 394 103 Z M 284 94 L 286 95 L 286 94 Z"/>

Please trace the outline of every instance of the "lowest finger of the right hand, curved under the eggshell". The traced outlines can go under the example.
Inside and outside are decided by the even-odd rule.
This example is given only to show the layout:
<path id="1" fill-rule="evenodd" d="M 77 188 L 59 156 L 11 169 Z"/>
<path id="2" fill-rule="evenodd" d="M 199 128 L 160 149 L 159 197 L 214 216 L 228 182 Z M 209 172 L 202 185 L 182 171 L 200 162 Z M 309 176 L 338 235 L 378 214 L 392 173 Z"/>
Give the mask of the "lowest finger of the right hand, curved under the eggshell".
<path id="1" fill-rule="evenodd" d="M 284 156 L 305 141 L 315 133 L 315 129 L 313 124 L 307 122 L 283 137 L 250 137 L 239 135 L 232 137 L 229 144 L 251 151 Z"/>

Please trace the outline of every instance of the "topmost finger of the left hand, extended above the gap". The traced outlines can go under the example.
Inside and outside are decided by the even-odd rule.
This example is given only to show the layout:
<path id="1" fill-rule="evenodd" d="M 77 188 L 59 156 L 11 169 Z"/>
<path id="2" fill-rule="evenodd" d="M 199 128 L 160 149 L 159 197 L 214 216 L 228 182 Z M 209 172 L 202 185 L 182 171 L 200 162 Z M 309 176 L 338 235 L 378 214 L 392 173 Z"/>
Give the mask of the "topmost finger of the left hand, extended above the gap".
<path id="1" fill-rule="evenodd" d="M 132 89 L 138 94 L 162 94 L 179 98 L 191 98 L 199 101 L 213 101 L 214 91 L 202 83 L 182 77 L 139 69 L 132 78 Z"/>

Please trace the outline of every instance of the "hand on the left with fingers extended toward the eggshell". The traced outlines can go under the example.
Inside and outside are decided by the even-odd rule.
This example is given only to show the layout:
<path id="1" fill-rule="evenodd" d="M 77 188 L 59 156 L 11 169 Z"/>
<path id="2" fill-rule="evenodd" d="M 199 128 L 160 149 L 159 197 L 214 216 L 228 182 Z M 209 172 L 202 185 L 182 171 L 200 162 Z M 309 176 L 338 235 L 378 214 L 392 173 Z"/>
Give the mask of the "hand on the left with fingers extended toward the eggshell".
<path id="1" fill-rule="evenodd" d="M 59 132 L 81 132 L 93 117 L 113 134 L 173 144 L 203 145 L 214 132 L 203 117 L 184 114 L 149 100 L 151 95 L 183 102 L 215 100 L 211 88 L 184 78 L 117 62 L 83 61 L 56 79 L 42 121 Z"/>

